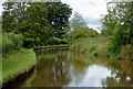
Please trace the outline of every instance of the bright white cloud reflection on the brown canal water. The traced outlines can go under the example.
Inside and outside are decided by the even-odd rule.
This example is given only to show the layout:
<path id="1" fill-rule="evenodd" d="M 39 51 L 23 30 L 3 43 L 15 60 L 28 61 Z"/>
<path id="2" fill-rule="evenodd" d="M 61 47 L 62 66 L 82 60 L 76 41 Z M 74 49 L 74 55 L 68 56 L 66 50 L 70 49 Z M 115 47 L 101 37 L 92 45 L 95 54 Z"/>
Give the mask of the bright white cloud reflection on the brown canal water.
<path id="1" fill-rule="evenodd" d="M 105 67 L 98 65 L 90 65 L 84 69 L 85 74 L 80 78 L 80 75 L 75 78 L 75 73 L 72 73 L 72 81 L 68 86 L 72 87 L 102 87 L 102 79 L 105 79 L 110 76 L 110 70 Z"/>

